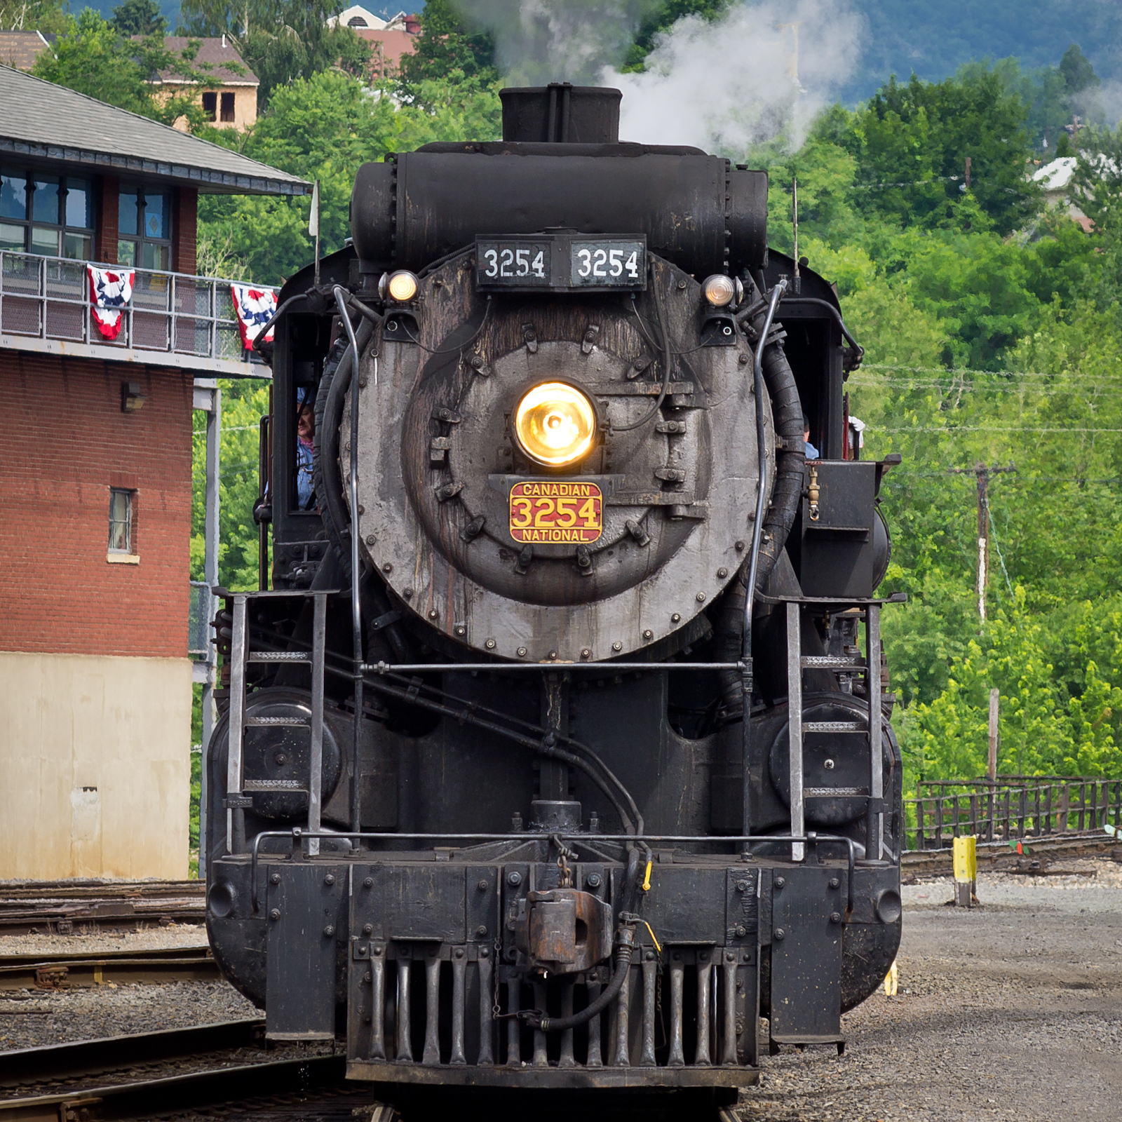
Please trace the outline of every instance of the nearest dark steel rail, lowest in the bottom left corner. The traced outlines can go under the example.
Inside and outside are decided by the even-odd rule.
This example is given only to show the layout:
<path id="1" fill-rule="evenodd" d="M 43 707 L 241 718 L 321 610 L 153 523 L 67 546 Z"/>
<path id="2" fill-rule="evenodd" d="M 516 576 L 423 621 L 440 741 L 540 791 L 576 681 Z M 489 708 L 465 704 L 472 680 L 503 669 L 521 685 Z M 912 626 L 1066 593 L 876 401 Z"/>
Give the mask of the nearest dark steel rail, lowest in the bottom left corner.
<path id="1" fill-rule="evenodd" d="M 220 1103 L 341 1084 L 346 1066 L 343 1056 L 318 1056 L 7 1098 L 0 1100 L 0 1122 L 58 1122 L 59 1119 L 77 1118 L 81 1111 L 89 1112 L 89 1116 L 99 1122 L 147 1120 Z"/>

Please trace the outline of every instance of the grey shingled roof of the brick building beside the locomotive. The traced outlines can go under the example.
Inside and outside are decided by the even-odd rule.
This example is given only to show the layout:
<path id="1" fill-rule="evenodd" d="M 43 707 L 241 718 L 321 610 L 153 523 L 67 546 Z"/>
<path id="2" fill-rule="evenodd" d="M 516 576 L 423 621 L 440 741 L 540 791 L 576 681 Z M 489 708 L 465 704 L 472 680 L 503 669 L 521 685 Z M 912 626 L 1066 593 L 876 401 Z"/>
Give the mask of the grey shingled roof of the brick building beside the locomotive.
<path id="1" fill-rule="evenodd" d="M 312 185 L 229 148 L 0 66 L 0 157 L 180 181 L 209 194 L 305 195 Z"/>

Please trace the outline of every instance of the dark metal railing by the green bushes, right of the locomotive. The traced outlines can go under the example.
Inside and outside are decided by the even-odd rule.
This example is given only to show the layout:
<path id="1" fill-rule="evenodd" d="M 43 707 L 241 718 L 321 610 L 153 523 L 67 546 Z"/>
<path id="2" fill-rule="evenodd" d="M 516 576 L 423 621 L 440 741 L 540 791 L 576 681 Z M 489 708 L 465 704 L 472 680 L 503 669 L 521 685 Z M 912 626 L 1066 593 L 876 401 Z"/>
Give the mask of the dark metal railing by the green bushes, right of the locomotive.
<path id="1" fill-rule="evenodd" d="M 926 792 L 926 793 L 925 793 Z M 949 849 L 981 842 L 1056 837 L 1122 826 L 1122 779 L 1102 775 L 999 775 L 928 780 L 904 800 L 905 849 Z"/>

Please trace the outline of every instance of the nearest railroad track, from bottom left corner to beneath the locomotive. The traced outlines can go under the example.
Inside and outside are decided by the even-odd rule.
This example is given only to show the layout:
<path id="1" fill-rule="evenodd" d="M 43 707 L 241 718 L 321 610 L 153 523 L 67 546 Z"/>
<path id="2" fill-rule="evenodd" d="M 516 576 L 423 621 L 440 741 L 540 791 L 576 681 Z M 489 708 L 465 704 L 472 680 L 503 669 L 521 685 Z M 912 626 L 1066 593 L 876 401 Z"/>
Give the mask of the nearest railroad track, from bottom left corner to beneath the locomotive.
<path id="1" fill-rule="evenodd" d="M 163 1032 L 0 1052 L 0 1122 L 125 1122 L 231 1118 L 240 1122 L 494 1122 L 532 1113 L 535 1122 L 571 1122 L 589 1101 L 576 1094 L 498 1094 L 471 1088 L 395 1087 L 348 1083 L 341 1055 L 276 1058 L 265 1022 L 250 1019 Z M 269 1057 L 273 1058 L 269 1058 Z M 178 1069 L 176 1066 L 178 1065 Z M 193 1065 L 194 1069 L 184 1070 Z M 688 1100 L 688 1102 L 687 1102 Z M 689 1109 L 688 1109 L 689 1107 Z M 597 1122 L 736 1122 L 698 1096 L 622 1093 L 600 1097 Z"/>

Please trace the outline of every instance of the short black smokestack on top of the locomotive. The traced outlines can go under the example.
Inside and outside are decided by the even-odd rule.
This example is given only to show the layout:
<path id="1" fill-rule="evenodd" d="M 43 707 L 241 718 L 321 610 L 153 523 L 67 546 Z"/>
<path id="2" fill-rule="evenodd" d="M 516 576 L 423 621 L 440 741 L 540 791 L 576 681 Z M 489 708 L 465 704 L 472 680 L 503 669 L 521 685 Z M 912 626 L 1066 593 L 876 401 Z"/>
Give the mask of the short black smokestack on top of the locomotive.
<path id="1" fill-rule="evenodd" d="M 623 92 L 598 85 L 499 90 L 503 139 L 544 144 L 618 144 Z"/>

